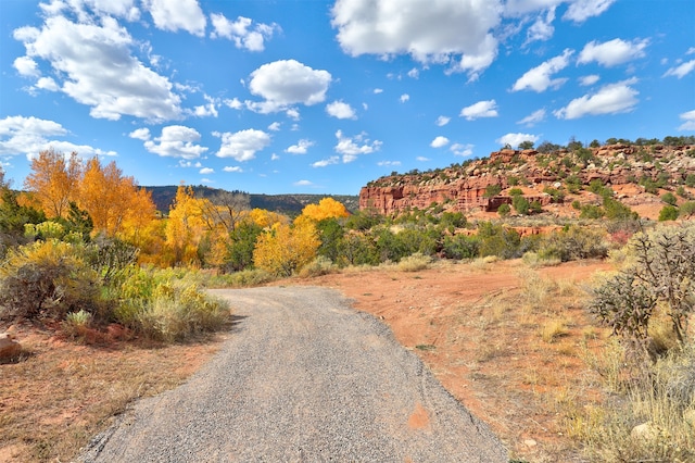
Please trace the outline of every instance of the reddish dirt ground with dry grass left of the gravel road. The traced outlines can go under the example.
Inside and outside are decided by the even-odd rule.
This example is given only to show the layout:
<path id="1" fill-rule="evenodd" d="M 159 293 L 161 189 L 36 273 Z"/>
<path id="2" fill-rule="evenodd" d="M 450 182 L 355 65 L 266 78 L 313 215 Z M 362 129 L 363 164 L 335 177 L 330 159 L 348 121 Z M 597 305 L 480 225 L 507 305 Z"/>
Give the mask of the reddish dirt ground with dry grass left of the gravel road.
<path id="1" fill-rule="evenodd" d="M 87 346 L 24 327 L 0 365 L 0 461 L 70 461 L 132 400 L 179 385 L 224 337 L 186 345 Z"/>

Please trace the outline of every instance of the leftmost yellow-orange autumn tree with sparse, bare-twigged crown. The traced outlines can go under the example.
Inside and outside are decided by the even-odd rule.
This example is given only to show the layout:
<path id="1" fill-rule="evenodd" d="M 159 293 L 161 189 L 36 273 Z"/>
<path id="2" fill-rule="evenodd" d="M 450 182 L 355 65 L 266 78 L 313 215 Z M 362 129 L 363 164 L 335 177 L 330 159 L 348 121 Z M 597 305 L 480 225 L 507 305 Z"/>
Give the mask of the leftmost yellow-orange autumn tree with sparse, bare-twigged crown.
<path id="1" fill-rule="evenodd" d="M 77 198 L 81 176 L 77 153 L 66 157 L 51 148 L 34 158 L 30 167 L 31 173 L 24 180 L 24 187 L 34 193 L 47 217 L 65 217 L 70 202 Z"/>

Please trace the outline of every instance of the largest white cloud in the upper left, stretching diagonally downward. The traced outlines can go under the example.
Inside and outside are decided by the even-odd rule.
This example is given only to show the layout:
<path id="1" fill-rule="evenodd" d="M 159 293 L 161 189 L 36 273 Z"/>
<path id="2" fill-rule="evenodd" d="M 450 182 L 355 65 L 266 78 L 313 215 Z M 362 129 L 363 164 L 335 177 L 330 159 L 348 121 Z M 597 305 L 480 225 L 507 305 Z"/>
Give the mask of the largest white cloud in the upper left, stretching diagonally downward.
<path id="1" fill-rule="evenodd" d="M 130 54 L 137 43 L 110 16 L 99 25 L 51 16 L 41 29 L 22 27 L 13 36 L 24 43 L 27 59 L 50 63 L 55 80 L 43 80 L 42 88 L 60 88 L 90 107 L 92 117 L 115 121 L 128 114 L 168 121 L 181 115 L 181 99 L 172 83 Z"/>

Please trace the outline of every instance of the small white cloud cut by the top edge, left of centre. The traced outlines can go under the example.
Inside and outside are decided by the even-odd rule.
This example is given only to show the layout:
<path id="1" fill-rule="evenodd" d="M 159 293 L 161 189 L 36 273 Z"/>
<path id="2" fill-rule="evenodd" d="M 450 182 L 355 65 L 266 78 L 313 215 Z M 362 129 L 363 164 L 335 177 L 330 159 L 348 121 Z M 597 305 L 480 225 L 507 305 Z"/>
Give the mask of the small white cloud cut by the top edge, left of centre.
<path id="1" fill-rule="evenodd" d="M 186 30 L 202 37 L 205 35 L 205 15 L 197 0 L 143 0 L 157 29 Z"/>

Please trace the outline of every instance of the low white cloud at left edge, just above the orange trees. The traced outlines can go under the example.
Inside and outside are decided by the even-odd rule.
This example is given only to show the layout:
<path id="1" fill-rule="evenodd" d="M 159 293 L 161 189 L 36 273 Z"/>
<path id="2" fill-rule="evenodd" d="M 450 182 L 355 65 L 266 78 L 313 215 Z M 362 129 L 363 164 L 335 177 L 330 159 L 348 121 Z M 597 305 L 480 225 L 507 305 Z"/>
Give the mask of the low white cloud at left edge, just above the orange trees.
<path id="1" fill-rule="evenodd" d="M 7 116 L 0 120 L 0 155 L 25 154 L 33 159 L 42 150 L 79 153 L 83 158 L 92 155 L 115 155 L 115 151 L 103 151 L 88 145 L 75 145 L 56 139 L 68 135 L 61 124 L 34 116 Z"/>

